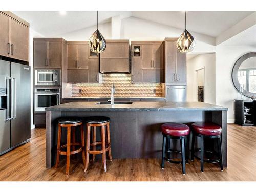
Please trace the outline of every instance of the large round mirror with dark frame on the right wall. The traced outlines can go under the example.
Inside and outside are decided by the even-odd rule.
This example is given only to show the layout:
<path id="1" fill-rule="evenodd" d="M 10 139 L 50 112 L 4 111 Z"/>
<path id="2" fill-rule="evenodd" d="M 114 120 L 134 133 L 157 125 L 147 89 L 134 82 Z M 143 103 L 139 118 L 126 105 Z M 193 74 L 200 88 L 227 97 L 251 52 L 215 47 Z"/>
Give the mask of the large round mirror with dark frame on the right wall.
<path id="1" fill-rule="evenodd" d="M 240 57 L 232 70 L 234 87 L 247 97 L 256 96 L 256 52 Z"/>

